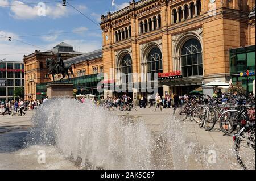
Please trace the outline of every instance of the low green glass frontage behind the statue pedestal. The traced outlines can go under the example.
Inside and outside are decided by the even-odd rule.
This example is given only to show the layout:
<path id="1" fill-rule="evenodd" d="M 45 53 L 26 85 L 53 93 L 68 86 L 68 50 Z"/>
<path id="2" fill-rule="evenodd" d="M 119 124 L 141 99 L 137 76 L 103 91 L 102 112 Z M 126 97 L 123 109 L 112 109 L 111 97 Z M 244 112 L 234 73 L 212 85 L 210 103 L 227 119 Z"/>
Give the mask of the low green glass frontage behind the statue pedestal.
<path id="1" fill-rule="evenodd" d="M 73 83 L 73 92 L 77 95 L 82 94 L 93 94 L 98 96 L 97 91 L 98 82 L 101 80 L 97 79 L 98 74 L 84 75 L 81 77 L 75 77 L 70 79 L 70 83 Z M 103 78 L 102 78 L 103 79 Z M 68 82 L 68 79 L 64 79 L 63 82 Z M 52 82 L 40 83 L 36 85 L 36 99 L 42 100 L 46 97 L 46 85 Z"/>

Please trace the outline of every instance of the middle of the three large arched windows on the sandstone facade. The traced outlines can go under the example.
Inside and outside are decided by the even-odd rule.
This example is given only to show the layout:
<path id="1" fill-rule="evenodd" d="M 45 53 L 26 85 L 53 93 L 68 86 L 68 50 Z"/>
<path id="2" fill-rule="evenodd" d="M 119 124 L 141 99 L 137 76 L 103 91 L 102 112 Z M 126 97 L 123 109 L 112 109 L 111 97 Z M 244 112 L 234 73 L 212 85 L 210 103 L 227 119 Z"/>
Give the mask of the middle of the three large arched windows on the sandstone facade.
<path id="1" fill-rule="evenodd" d="M 159 48 L 152 48 L 147 56 L 148 78 L 154 80 L 154 73 L 163 72 L 162 53 Z"/>

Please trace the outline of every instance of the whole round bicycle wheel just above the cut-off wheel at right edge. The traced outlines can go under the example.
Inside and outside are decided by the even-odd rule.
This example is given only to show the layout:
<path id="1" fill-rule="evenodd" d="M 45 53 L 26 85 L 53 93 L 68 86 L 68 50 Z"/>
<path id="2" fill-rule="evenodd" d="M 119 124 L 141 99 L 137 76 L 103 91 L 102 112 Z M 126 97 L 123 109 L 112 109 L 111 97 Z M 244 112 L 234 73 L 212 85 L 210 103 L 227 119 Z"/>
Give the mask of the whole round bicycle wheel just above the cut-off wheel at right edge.
<path id="1" fill-rule="evenodd" d="M 237 134 L 241 127 L 241 121 L 246 120 L 245 115 L 237 110 L 228 110 L 220 116 L 221 131 L 229 136 Z"/>

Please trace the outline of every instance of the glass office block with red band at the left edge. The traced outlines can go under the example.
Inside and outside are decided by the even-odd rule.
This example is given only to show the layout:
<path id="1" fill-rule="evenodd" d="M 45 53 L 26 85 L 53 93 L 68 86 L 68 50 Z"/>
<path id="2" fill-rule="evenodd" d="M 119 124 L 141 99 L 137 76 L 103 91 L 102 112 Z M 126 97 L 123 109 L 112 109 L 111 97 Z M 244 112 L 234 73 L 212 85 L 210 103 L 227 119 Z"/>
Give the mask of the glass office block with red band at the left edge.
<path id="1" fill-rule="evenodd" d="M 18 100 L 14 97 L 15 87 L 24 86 L 23 62 L 1 61 L 0 62 L 0 100 Z"/>

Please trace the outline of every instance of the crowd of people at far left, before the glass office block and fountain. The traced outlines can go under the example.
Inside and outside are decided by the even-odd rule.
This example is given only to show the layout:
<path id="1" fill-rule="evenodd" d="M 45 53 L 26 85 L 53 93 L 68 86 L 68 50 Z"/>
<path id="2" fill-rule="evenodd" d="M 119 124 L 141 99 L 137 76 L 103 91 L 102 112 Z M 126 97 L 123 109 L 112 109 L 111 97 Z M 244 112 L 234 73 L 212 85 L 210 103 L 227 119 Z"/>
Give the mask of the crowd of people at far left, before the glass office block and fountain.
<path id="1" fill-rule="evenodd" d="M 2 101 L 0 112 L 3 116 L 7 114 L 14 116 L 24 116 L 24 111 L 37 109 L 42 104 L 41 100 L 11 100 Z"/>

